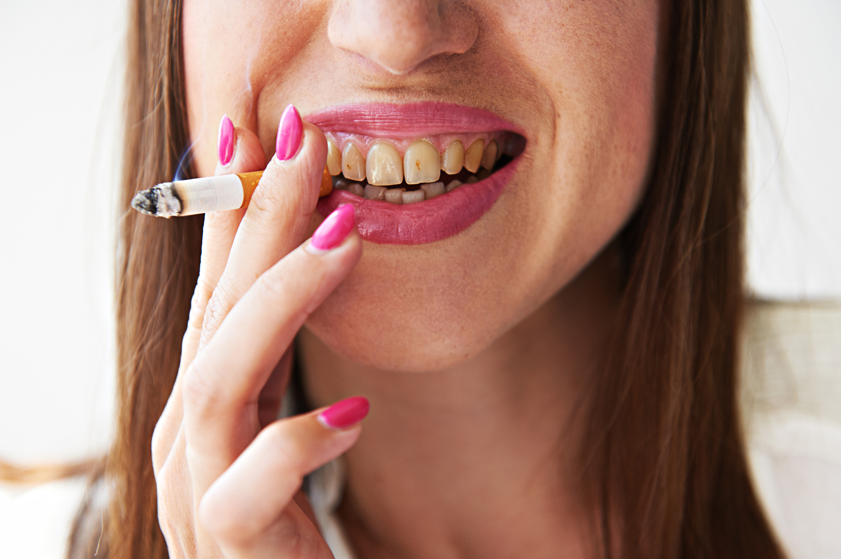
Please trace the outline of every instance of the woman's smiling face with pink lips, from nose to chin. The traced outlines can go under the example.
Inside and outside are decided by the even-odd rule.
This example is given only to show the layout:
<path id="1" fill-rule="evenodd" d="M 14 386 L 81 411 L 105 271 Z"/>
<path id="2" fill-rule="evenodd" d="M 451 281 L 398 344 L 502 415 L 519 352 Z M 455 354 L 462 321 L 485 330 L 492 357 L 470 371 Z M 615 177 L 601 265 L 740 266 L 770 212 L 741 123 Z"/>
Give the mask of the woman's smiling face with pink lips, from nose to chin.
<path id="1" fill-rule="evenodd" d="M 379 168 L 400 161 L 382 143 L 369 152 L 376 141 L 403 159 L 414 140 L 439 154 L 497 140 L 513 161 L 440 197 L 334 191 L 320 203 L 356 204 L 368 242 L 309 329 L 374 367 L 456 364 L 557 293 L 632 214 L 653 139 L 658 15 L 656 0 L 188 0 L 196 171 L 214 172 L 223 113 L 271 156 L 287 103 Z"/>

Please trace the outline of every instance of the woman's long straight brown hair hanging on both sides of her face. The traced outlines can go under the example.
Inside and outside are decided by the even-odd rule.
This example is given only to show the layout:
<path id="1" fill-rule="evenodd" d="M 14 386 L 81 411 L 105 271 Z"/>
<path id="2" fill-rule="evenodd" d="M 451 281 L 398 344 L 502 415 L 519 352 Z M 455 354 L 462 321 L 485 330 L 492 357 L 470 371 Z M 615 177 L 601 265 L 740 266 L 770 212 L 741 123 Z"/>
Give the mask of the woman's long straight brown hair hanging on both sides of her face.
<path id="1" fill-rule="evenodd" d="M 653 173 L 621 235 L 627 282 L 583 458 L 605 556 L 782 556 L 750 482 L 736 402 L 746 4 L 675 2 L 662 26 Z M 170 179 L 188 145 L 178 0 L 132 2 L 129 54 L 123 208 Z M 121 218 L 119 417 L 100 556 L 167 556 L 151 435 L 176 377 L 201 226 L 199 216 Z M 77 551 L 98 542 L 72 541 Z"/>

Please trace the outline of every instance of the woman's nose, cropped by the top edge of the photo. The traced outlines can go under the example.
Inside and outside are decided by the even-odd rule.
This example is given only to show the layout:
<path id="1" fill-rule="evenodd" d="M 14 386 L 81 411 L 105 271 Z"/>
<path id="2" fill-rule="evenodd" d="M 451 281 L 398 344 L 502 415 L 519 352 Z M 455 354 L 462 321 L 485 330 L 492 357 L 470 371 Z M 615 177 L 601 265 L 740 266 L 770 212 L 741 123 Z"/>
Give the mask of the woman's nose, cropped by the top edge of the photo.
<path id="1" fill-rule="evenodd" d="M 336 47 L 405 74 L 432 56 L 469 50 L 479 24 L 452 0 L 340 0 L 327 35 Z"/>

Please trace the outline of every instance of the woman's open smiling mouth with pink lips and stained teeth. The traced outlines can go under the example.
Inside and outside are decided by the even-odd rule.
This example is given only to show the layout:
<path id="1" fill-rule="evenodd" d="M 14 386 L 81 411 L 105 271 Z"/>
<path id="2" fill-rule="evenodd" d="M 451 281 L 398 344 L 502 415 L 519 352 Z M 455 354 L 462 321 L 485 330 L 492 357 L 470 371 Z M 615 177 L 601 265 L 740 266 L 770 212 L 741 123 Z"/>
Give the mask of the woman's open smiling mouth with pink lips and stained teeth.
<path id="1" fill-rule="evenodd" d="M 448 103 L 353 105 L 306 119 L 328 141 L 334 191 L 320 214 L 352 203 L 362 238 L 381 244 L 466 229 L 494 205 L 526 145 L 514 124 Z"/>

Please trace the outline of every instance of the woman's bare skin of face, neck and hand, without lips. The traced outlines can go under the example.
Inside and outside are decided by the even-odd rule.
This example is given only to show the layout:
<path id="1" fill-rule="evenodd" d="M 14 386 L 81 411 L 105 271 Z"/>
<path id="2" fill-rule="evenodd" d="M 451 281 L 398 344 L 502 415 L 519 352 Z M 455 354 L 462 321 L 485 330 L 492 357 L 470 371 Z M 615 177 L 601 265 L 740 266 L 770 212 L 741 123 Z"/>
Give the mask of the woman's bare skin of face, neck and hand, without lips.
<path id="1" fill-rule="evenodd" d="M 171 556 L 329 557 L 296 491 L 354 443 L 339 513 L 361 558 L 589 556 L 574 410 L 616 313 L 610 241 L 647 176 L 658 4 L 183 9 L 200 176 L 265 167 L 288 103 L 304 117 L 360 101 L 460 103 L 509 119 L 528 143 L 495 206 L 429 245 L 352 233 L 324 255 L 294 249 L 320 221 L 326 147 L 311 125 L 245 212 L 207 216 L 182 367 L 153 441 Z M 226 167 L 223 113 L 238 126 Z M 362 435 L 325 429 L 317 412 L 272 422 L 297 332 L 308 398 L 368 397 Z"/>

